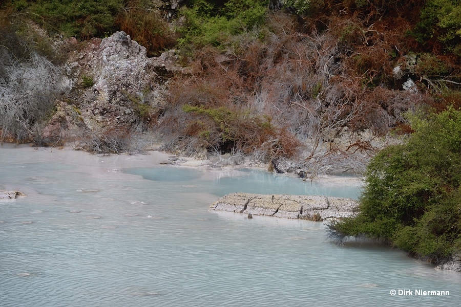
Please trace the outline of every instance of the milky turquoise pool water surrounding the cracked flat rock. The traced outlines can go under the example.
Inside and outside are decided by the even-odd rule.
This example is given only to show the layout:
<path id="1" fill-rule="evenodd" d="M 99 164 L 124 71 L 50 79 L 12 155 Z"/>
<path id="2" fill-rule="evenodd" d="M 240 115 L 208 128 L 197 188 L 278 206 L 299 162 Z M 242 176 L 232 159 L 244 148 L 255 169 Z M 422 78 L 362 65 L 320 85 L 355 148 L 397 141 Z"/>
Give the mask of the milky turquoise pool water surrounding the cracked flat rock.
<path id="1" fill-rule="evenodd" d="M 457 306 L 459 273 L 322 223 L 208 212 L 228 192 L 357 197 L 263 171 L 0 148 L 0 306 Z M 391 296 L 390 290 L 450 291 Z"/>

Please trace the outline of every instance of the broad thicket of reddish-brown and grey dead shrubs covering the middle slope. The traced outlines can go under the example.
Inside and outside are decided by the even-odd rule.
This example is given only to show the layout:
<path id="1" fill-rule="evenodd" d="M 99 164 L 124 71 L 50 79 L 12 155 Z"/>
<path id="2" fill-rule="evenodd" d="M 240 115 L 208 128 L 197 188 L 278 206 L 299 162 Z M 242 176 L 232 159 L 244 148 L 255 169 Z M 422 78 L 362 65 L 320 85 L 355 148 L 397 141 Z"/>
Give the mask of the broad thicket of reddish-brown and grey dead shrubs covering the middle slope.
<path id="1" fill-rule="evenodd" d="M 342 165 L 358 151 L 371 153 L 374 137 L 356 133 L 368 129 L 374 136 L 384 135 L 404 122 L 404 112 L 428 100 L 399 90 L 392 75 L 396 65 L 405 64 L 403 38 L 409 24 L 399 17 L 367 27 L 353 18 L 332 17 L 329 22 L 329 31 L 319 32 L 315 23 L 301 31 L 296 19 L 277 13 L 270 15 L 265 39 L 247 33 L 226 53 L 211 48 L 198 53 L 192 76 L 170 85 L 163 128 L 166 122 L 178 138 L 195 139 L 181 138 L 183 144 L 221 152 L 269 151 L 265 159 L 290 157 L 302 144 L 308 154 L 301 166 L 315 164 L 317 170 Z M 186 113 L 183 105 L 226 107 L 249 117 L 238 116 L 231 124 L 241 137 L 224 148 L 216 121 Z M 261 115 L 271 119 L 270 129 L 258 128 L 261 123 L 255 119 Z"/>

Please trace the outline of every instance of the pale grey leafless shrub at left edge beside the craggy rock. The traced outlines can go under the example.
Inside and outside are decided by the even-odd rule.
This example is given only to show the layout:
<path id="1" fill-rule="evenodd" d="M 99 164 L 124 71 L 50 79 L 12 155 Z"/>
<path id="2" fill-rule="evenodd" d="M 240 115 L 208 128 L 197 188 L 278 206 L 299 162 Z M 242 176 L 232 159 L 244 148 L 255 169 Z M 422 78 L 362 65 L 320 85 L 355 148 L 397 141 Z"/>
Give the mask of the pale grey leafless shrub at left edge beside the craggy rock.
<path id="1" fill-rule="evenodd" d="M 0 75 L 0 141 L 39 137 L 55 106 L 56 97 L 67 89 L 60 68 L 32 53 L 17 59 L 3 50 Z"/>

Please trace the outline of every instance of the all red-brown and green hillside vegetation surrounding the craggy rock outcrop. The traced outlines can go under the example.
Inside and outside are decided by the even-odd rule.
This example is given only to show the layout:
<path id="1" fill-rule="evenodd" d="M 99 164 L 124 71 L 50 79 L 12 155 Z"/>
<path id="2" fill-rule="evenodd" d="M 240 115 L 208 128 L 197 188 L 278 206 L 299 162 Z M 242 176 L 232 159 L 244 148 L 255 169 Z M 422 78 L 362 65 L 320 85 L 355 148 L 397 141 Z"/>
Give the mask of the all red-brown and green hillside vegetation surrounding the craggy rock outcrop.
<path id="1" fill-rule="evenodd" d="M 166 136 L 165 149 L 296 158 L 315 174 L 361 170 L 383 136 L 410 131 L 405 112 L 459 103 L 459 9 L 450 0 L 11 0 L 2 28 L 30 41 L 15 52 L 43 40 L 31 22 L 79 40 L 123 30 L 149 56 L 177 48 L 191 73 L 168 77 L 169 104 L 150 117 L 161 125 L 146 127 Z M 2 47 L 7 58 L 11 50 Z"/>

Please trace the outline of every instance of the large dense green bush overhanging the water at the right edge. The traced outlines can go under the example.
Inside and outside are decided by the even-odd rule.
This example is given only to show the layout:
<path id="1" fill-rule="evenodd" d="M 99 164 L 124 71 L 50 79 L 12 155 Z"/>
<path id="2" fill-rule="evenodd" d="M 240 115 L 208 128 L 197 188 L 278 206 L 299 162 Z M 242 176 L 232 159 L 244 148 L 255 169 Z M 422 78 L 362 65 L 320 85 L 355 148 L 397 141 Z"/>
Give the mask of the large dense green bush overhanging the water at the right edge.
<path id="1" fill-rule="evenodd" d="M 337 237 L 391 240 L 432 260 L 461 243 L 461 111 L 411 117 L 415 133 L 382 150 L 365 174 L 358 216 L 329 225 Z"/>

